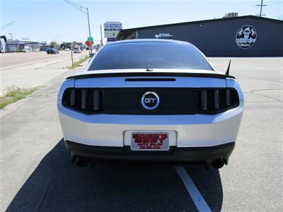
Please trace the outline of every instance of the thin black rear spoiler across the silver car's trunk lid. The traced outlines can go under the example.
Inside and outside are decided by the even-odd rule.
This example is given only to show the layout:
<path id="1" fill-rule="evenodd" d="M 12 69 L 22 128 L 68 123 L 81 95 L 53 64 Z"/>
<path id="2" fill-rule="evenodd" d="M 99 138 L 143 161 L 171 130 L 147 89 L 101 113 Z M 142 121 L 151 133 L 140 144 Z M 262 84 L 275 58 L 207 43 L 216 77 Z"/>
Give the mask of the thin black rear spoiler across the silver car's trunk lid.
<path id="1" fill-rule="evenodd" d="M 187 77 L 207 77 L 207 78 L 235 78 L 234 76 L 229 76 L 220 73 L 173 73 L 173 72 L 117 72 L 117 73 L 89 73 L 82 75 L 69 76 L 66 79 L 82 79 L 82 78 L 103 78 L 103 77 L 120 77 L 120 76 L 187 76 Z"/>

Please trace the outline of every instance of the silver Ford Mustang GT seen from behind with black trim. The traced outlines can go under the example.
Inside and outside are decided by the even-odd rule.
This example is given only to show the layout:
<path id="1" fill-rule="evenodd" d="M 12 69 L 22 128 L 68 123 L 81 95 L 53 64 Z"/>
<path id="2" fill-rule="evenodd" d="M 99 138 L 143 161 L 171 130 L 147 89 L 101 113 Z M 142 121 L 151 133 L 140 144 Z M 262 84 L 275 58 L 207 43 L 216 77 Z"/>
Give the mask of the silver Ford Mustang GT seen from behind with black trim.
<path id="1" fill-rule="evenodd" d="M 78 165 L 105 158 L 220 168 L 235 146 L 243 105 L 229 71 L 219 73 L 199 49 L 176 40 L 105 45 L 64 81 L 57 99 Z"/>

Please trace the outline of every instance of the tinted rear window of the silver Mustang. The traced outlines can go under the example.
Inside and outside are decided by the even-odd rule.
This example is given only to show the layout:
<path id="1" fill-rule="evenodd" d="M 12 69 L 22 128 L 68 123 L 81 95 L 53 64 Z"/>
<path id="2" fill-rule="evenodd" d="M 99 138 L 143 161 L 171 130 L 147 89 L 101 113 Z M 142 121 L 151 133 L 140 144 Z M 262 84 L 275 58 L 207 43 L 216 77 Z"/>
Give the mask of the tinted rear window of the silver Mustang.
<path id="1" fill-rule="evenodd" d="M 103 47 L 88 71 L 149 68 L 213 70 L 193 45 L 171 42 L 132 42 Z"/>

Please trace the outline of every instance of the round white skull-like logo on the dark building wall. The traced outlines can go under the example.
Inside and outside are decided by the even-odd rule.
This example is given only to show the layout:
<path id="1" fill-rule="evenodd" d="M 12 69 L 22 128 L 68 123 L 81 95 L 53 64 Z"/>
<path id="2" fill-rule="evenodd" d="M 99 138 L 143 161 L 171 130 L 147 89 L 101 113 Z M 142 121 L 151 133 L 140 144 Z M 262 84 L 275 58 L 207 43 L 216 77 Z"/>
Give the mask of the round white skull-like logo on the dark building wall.
<path id="1" fill-rule="evenodd" d="M 255 43 L 257 34 L 255 28 L 251 25 L 242 26 L 236 35 L 236 43 L 242 49 L 248 49 Z"/>

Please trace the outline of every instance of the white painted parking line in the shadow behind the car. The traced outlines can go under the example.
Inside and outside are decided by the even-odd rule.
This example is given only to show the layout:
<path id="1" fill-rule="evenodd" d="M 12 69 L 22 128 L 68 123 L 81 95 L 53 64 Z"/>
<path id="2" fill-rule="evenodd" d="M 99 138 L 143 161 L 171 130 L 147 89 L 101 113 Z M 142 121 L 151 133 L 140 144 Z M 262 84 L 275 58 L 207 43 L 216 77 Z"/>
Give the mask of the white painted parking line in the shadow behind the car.
<path id="1" fill-rule="evenodd" d="M 212 211 L 207 202 L 202 197 L 202 194 L 200 194 L 199 190 L 195 186 L 194 182 L 192 182 L 192 179 L 190 178 L 190 175 L 187 174 L 187 171 L 183 166 L 175 166 L 175 170 L 180 176 L 180 179 L 182 179 L 183 184 L 185 185 L 185 188 L 187 189 L 187 192 L 189 192 L 192 201 L 194 202 L 195 206 L 197 207 L 197 210 L 202 211 Z"/>

